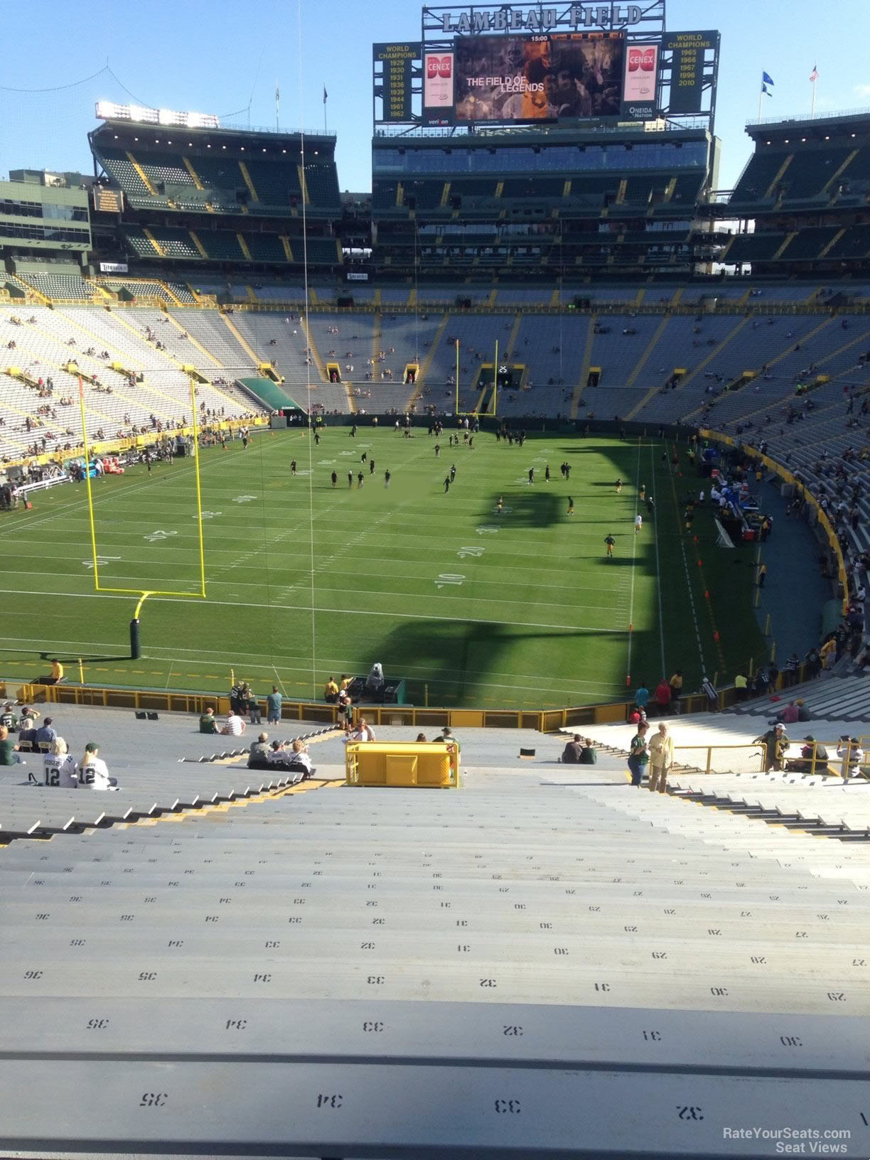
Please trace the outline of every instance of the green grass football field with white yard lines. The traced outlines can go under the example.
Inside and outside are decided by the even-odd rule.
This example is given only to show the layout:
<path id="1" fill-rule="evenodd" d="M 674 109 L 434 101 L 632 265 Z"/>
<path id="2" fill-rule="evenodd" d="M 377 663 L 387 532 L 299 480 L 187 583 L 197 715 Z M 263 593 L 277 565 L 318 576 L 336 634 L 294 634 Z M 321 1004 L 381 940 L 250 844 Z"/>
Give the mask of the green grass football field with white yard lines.
<path id="1" fill-rule="evenodd" d="M 438 461 L 420 428 L 411 440 L 327 428 L 319 447 L 282 432 L 203 452 L 208 599 L 152 596 L 138 661 L 136 597 L 94 592 L 85 486 L 37 493 L 31 512 L 0 516 L 0 676 L 32 679 L 57 654 L 71 681 L 82 658 L 88 683 L 217 693 L 233 668 L 260 695 L 274 682 L 305 698 L 379 660 L 415 704 L 537 709 L 619 699 L 629 675 L 652 687 L 674 668 L 690 690 L 704 672 L 724 682 L 762 655 L 754 551 L 717 549 L 706 512 L 682 531 L 679 505 L 699 486 L 684 449 L 684 473 L 672 474 L 654 441 L 532 436 L 520 449 L 481 432 L 469 450 L 447 438 Z M 376 470 L 362 464 L 358 488 L 363 451 Z M 101 585 L 196 590 L 194 486 L 186 459 L 94 481 Z"/>

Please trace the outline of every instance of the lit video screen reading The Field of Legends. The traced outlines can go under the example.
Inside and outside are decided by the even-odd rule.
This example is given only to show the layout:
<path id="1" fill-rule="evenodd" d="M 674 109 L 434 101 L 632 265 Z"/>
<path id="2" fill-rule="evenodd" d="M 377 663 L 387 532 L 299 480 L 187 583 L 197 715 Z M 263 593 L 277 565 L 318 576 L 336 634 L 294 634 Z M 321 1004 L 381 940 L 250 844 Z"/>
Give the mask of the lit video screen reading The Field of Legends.
<path id="1" fill-rule="evenodd" d="M 457 122 L 619 115 L 622 34 L 457 37 L 454 48 Z"/>

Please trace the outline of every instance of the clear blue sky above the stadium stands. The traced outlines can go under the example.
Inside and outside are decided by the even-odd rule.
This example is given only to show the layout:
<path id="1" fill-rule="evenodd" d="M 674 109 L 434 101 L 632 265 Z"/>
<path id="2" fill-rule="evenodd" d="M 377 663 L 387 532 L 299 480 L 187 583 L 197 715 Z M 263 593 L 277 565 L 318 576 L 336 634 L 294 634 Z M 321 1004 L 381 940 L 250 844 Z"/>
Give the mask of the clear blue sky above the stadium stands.
<path id="1" fill-rule="evenodd" d="M 722 188 L 748 154 L 747 118 L 757 115 L 761 71 L 775 81 L 763 115 L 809 115 L 818 65 L 817 113 L 870 107 L 870 2 L 839 0 L 668 0 L 674 31 L 722 32 L 717 133 Z M 0 70 L 0 173 L 85 169 L 94 102 L 238 114 L 232 124 L 281 123 L 338 133 L 342 189 L 371 188 L 371 44 L 420 35 L 412 0 L 31 0 L 3 7 L 7 52 Z M 106 70 L 107 63 L 114 77 Z M 302 85 L 300 85 L 302 72 Z M 97 74 L 84 84 L 84 78 Z M 117 78 L 117 79 L 116 79 Z M 68 87 L 63 87 L 68 86 Z M 52 92 L 21 92 L 53 89 Z M 242 110 L 239 113 L 239 110 Z M 227 123 L 230 123 L 227 122 Z"/>

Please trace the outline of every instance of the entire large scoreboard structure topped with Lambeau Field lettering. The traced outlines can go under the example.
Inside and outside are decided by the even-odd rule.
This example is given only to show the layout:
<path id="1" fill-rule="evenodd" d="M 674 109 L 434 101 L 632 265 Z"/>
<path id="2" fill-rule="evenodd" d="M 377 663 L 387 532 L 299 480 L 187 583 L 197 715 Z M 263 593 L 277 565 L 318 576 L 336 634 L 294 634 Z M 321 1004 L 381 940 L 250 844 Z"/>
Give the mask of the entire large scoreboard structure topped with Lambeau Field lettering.
<path id="1" fill-rule="evenodd" d="M 658 117 L 712 128 L 718 55 L 718 32 L 665 30 L 665 0 L 423 8 L 419 42 L 374 46 L 375 131 Z"/>

